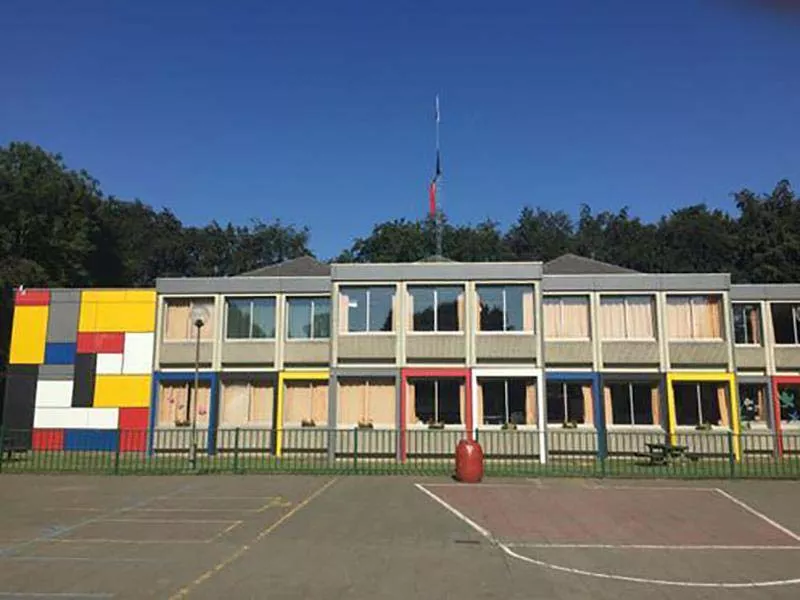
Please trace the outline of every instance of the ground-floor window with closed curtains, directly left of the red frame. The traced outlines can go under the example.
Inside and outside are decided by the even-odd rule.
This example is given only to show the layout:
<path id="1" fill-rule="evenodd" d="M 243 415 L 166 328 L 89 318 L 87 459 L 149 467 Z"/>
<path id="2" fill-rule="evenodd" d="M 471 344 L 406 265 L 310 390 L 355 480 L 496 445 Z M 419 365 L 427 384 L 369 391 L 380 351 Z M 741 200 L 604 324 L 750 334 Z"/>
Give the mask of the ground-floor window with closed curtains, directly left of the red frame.
<path id="1" fill-rule="evenodd" d="M 394 427 L 394 379 L 346 378 L 339 380 L 339 427 L 369 423 Z"/>

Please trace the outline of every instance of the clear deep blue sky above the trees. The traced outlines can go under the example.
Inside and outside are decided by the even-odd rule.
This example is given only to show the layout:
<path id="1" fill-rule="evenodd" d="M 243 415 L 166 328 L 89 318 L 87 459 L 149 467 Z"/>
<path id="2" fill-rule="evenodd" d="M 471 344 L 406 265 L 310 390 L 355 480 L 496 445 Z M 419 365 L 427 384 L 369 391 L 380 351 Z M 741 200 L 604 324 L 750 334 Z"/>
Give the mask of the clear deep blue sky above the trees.
<path id="1" fill-rule="evenodd" d="M 456 222 L 800 187 L 800 17 L 737 0 L 5 0 L 0 57 L 0 144 L 323 258 L 425 214 L 436 93 Z"/>

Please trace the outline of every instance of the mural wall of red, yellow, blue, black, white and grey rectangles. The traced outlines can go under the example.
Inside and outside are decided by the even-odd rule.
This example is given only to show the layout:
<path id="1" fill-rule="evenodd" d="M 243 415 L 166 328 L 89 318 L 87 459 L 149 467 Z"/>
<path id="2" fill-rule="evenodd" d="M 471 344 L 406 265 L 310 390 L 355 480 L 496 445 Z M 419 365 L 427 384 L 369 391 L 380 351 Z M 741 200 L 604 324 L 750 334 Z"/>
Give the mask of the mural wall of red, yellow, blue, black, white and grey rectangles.
<path id="1" fill-rule="evenodd" d="M 20 290 L 4 425 L 33 448 L 146 447 L 155 290 Z"/>

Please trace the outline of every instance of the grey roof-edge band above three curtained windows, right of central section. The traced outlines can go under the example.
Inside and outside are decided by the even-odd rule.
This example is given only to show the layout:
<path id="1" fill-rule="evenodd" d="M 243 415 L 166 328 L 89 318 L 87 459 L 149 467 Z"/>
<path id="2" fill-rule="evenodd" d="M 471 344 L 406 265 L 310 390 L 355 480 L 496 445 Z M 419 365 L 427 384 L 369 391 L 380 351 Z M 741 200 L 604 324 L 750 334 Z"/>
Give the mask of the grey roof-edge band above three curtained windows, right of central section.
<path id="1" fill-rule="evenodd" d="M 667 273 L 651 275 L 631 273 L 619 275 L 545 275 L 545 292 L 607 291 L 607 292 L 692 292 L 730 288 L 727 273 Z"/>

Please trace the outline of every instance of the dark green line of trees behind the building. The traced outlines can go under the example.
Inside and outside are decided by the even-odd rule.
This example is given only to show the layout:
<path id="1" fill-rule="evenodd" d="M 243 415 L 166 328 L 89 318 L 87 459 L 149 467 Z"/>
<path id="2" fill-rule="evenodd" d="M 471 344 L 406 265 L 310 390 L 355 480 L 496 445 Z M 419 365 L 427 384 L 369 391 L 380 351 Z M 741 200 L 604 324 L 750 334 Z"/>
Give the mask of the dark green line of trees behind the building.
<path id="1" fill-rule="evenodd" d="M 735 214 L 705 204 L 645 222 L 627 208 L 577 218 L 526 206 L 494 221 L 443 227 L 456 261 L 547 261 L 572 252 L 646 272 L 730 272 L 735 281 L 800 281 L 800 198 L 788 181 L 734 193 Z M 108 195 L 86 170 L 39 146 L 0 147 L 0 364 L 14 287 L 150 286 L 156 277 L 236 275 L 311 254 L 308 228 L 280 220 L 185 225 L 168 209 Z M 417 261 L 435 251 L 430 219 L 375 225 L 340 262 Z"/>

